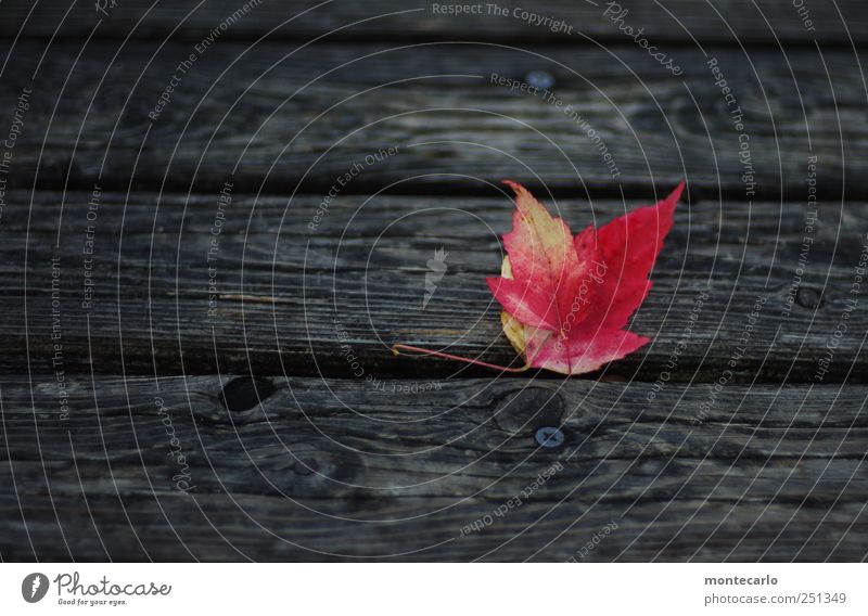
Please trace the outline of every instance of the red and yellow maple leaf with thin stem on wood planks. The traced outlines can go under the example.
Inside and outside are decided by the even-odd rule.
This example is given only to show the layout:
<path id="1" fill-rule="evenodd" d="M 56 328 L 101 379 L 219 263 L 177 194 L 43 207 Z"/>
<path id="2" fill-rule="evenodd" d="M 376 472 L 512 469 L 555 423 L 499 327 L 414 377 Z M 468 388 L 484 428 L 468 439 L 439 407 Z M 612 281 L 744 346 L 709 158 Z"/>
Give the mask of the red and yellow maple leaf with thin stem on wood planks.
<path id="1" fill-rule="evenodd" d="M 503 333 L 524 358 L 520 369 L 413 350 L 510 371 L 542 368 L 582 374 L 622 359 L 650 338 L 625 330 L 652 283 L 648 280 L 673 226 L 684 182 L 663 201 L 639 207 L 575 236 L 521 184 L 515 191 L 512 231 L 503 235 L 507 257 L 488 286 L 503 307 Z"/>

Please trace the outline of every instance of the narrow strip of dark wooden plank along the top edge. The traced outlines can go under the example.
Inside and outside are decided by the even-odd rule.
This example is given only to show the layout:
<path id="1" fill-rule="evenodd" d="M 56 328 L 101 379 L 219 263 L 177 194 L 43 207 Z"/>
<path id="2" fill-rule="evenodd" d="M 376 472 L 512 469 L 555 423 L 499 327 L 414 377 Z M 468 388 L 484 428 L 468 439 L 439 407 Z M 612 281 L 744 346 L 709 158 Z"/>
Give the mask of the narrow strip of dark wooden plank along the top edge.
<path id="1" fill-rule="evenodd" d="M 202 40 L 219 24 L 234 18 L 220 31 L 227 39 L 272 37 L 304 39 L 328 36 L 329 40 L 358 40 L 390 37 L 420 39 L 460 38 L 473 40 L 545 41 L 563 40 L 572 35 L 595 40 L 618 40 L 627 36 L 620 29 L 643 28 L 652 42 L 752 42 L 775 41 L 850 43 L 851 38 L 864 41 L 868 24 L 856 0 L 813 0 L 794 5 L 792 0 L 715 0 L 697 3 L 669 0 L 665 3 L 621 0 L 618 3 L 570 0 L 537 0 L 532 9 L 521 4 L 499 4 L 507 14 L 495 13 L 487 3 L 480 3 L 475 13 L 455 15 L 444 7 L 474 5 L 468 2 L 397 2 L 369 0 L 352 2 L 275 1 L 250 3 L 239 0 L 193 0 L 161 2 L 152 7 L 146 0 L 126 0 L 105 12 L 94 10 L 93 2 L 42 0 L 36 7 L 23 0 L 4 0 L 2 36 L 59 36 L 159 38 L 171 36 Z M 199 7 L 196 7 L 199 4 Z M 72 5 L 72 8 L 71 8 Z M 628 13 L 622 15 L 618 7 Z M 242 13 L 238 13 L 238 11 Z M 306 10 L 309 12 L 304 13 Z M 525 14 L 538 15 L 533 18 Z M 542 20 L 550 17 L 550 23 Z M 615 20 L 621 18 L 622 22 Z M 565 22 L 561 27 L 558 22 Z M 572 30 L 569 27 L 572 26 Z M 554 31 L 552 31 L 554 28 Z M 583 36 L 584 35 L 584 36 Z"/>

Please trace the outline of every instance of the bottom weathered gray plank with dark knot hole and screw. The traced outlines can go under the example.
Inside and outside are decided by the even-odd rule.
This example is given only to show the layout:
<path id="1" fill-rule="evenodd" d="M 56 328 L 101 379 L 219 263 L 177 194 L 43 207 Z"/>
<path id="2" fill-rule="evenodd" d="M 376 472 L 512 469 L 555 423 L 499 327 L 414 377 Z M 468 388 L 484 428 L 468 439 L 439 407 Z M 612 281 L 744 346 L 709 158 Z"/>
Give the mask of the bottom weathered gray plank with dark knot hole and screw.
<path id="1" fill-rule="evenodd" d="M 260 403 L 229 411 L 220 400 L 232 378 L 69 377 L 63 419 L 53 375 L 3 377 L 0 473 L 14 491 L 0 508 L 17 529 L 14 542 L 0 539 L 3 559 L 852 561 L 868 551 L 864 387 L 730 385 L 694 424 L 711 385 L 671 384 L 648 405 L 652 385 L 641 383 L 461 380 L 421 396 L 391 392 L 408 381 L 379 390 L 277 378 L 259 382 L 271 392 Z M 560 426 L 565 445 L 538 447 L 540 425 Z M 189 493 L 176 489 L 174 448 Z"/>

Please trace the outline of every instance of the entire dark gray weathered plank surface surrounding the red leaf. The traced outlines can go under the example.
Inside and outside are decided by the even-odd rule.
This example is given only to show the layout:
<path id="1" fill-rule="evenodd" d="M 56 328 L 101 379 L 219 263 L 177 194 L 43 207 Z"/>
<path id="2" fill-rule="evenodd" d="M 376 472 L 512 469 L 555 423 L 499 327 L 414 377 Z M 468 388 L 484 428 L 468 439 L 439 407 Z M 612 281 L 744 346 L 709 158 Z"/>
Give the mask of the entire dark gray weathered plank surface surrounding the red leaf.
<path id="1" fill-rule="evenodd" d="M 0 561 L 868 559 L 864 2 L 197 3 L 0 2 Z M 503 179 L 686 180 L 652 344 L 390 352 L 520 362 Z"/>

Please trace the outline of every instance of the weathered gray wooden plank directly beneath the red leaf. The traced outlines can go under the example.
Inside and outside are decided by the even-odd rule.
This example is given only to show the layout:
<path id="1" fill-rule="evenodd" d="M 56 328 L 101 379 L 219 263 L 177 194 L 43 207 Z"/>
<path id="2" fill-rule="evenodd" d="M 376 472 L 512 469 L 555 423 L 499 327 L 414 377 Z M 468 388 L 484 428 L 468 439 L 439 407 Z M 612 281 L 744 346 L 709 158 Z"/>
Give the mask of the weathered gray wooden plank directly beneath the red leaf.
<path id="1" fill-rule="evenodd" d="M 66 370 L 122 362 L 131 374 L 492 375 L 393 357 L 396 342 L 516 361 L 485 284 L 511 224 L 506 195 L 343 196 L 316 229 L 316 197 L 234 194 L 225 206 L 218 197 L 10 193 L 0 365 L 53 370 L 55 343 Z M 574 229 L 634 205 L 557 201 Z M 868 309 L 857 277 L 868 209 L 822 202 L 817 210 L 682 204 L 633 323 L 654 342 L 605 374 L 864 382 Z M 424 305 L 426 264 L 441 247 L 447 271 Z"/>

